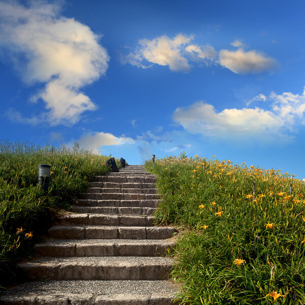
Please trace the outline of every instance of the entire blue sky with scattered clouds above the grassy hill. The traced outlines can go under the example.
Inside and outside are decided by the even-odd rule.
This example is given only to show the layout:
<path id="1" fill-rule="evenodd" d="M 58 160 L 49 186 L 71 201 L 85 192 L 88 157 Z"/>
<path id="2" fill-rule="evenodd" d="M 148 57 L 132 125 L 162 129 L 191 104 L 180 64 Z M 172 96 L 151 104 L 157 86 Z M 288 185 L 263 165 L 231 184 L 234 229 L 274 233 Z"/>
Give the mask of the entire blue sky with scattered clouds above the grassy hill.
<path id="1" fill-rule="evenodd" d="M 303 1 L 1 1 L 0 139 L 305 177 Z"/>

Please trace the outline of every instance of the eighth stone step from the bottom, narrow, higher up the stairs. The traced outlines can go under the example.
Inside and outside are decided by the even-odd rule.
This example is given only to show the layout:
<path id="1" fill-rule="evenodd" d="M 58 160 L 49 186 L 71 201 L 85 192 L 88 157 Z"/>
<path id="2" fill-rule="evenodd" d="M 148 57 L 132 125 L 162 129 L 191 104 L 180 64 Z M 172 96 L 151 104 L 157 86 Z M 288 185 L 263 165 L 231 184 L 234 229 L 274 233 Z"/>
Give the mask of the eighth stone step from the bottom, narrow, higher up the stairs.
<path id="1" fill-rule="evenodd" d="M 82 193 L 80 199 L 145 200 L 160 199 L 160 196 L 158 194 Z"/>

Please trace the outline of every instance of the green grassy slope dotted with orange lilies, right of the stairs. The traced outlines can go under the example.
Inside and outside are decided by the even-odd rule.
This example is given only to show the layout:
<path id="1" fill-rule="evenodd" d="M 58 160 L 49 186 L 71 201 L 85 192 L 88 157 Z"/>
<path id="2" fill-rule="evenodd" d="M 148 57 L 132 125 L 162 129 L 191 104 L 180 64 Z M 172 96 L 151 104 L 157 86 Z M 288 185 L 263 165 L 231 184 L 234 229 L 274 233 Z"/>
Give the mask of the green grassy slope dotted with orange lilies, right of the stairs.
<path id="1" fill-rule="evenodd" d="M 184 154 L 145 167 L 164 199 L 157 223 L 188 229 L 170 253 L 181 304 L 305 303 L 303 181 L 289 196 L 279 170 Z"/>

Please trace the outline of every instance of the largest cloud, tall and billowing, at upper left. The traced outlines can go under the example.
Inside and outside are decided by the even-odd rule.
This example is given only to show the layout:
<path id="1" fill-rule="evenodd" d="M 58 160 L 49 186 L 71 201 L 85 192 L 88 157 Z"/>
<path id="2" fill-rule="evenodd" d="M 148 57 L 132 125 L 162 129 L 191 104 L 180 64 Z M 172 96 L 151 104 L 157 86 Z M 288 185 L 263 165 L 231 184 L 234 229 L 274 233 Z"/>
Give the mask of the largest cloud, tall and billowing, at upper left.
<path id="1" fill-rule="evenodd" d="M 106 73 L 109 56 L 88 26 L 60 15 L 58 3 L 0 2 L 0 46 L 25 83 L 45 83 L 32 101 L 44 101 L 47 111 L 19 121 L 71 125 L 96 109 L 80 89 Z"/>

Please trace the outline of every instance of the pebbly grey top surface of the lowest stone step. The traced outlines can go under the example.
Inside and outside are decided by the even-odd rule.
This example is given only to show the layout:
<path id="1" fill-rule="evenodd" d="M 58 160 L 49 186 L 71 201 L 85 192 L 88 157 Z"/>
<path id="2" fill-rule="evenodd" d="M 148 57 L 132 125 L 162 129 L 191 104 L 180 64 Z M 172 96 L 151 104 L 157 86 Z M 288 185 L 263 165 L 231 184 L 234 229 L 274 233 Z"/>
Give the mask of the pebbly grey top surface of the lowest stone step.
<path id="1" fill-rule="evenodd" d="M 37 295 L 150 295 L 158 294 L 172 295 L 178 289 L 171 281 L 83 281 L 63 280 L 47 282 L 28 282 L 18 285 L 3 293 L 4 296 L 37 296 Z M 84 293 L 85 291 L 85 293 Z M 1 299 L 0 299 L 1 300 Z"/>

